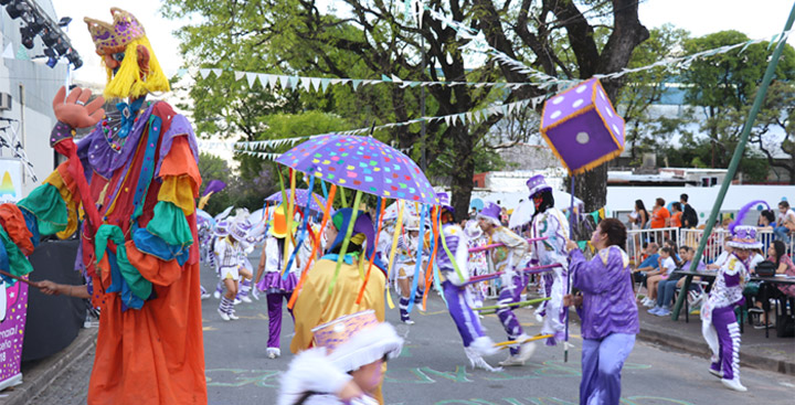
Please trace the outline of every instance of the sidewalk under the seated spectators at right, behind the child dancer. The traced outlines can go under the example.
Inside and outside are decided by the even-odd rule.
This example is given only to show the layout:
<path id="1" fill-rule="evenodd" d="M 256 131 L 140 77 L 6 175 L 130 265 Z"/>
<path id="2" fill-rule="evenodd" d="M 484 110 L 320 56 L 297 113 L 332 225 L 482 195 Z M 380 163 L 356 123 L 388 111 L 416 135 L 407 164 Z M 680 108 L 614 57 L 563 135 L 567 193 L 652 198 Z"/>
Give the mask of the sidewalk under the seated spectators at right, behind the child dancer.
<path id="1" fill-rule="evenodd" d="M 701 335 L 701 318 L 698 315 L 691 315 L 690 322 L 685 322 L 683 309 L 678 321 L 672 321 L 670 317 L 653 316 L 643 306 L 638 307 L 638 339 L 670 350 L 710 358 L 711 352 Z M 748 320 L 743 328 L 740 338 L 741 366 L 795 375 L 795 339 L 776 338 L 773 329 L 768 331 L 770 338 L 765 339 L 764 329 L 753 329 Z"/>

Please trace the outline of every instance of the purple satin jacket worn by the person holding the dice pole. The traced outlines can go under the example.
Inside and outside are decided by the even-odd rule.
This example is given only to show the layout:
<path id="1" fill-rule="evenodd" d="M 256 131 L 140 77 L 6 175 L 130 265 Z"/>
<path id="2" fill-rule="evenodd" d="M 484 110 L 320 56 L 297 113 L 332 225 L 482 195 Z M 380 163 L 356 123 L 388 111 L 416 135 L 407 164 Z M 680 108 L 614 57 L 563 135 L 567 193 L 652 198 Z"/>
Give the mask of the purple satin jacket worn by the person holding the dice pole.
<path id="1" fill-rule="evenodd" d="M 639 332 L 629 258 L 621 247 L 606 247 L 591 262 L 585 260 L 580 249 L 573 249 L 569 254 L 569 271 L 572 286 L 583 294 L 583 305 L 577 309 L 583 339 Z"/>

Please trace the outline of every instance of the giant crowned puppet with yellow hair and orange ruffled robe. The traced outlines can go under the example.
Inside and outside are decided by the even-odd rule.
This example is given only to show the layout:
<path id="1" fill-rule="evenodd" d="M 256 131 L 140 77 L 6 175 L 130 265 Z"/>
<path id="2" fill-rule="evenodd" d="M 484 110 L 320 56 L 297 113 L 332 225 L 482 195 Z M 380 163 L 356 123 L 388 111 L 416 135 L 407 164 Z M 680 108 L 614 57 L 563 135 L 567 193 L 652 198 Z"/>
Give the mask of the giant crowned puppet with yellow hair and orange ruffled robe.
<path id="1" fill-rule="evenodd" d="M 161 72 L 144 29 L 123 10 L 112 13 L 113 25 L 86 20 L 97 52 L 108 41 L 127 54 L 146 46 L 152 74 L 130 84 L 131 95 L 146 94 Z M 30 273 L 24 255 L 39 235 L 67 237 L 85 212 L 78 260 L 102 309 L 88 403 L 205 404 L 197 141 L 188 119 L 167 103 L 141 96 L 117 107 L 118 120 L 100 121 L 76 145 L 75 130 L 59 122 L 51 145 L 70 160 L 19 209 L 0 209 L 10 271 Z"/>

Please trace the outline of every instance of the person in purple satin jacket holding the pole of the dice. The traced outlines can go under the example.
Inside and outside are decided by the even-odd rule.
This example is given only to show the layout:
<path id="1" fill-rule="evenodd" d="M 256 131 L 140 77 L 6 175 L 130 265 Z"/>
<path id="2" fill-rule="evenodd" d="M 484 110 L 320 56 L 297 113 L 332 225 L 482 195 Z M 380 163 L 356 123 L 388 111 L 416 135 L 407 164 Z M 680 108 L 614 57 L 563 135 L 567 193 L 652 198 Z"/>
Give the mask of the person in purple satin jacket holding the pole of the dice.
<path id="1" fill-rule="evenodd" d="M 581 291 L 576 297 L 566 295 L 563 302 L 574 303 L 582 320 L 582 405 L 618 404 L 621 371 L 639 331 L 629 256 L 622 248 L 626 235 L 621 221 L 600 222 L 591 235 L 596 248 L 591 260 L 575 242 L 566 242 L 572 286 Z"/>

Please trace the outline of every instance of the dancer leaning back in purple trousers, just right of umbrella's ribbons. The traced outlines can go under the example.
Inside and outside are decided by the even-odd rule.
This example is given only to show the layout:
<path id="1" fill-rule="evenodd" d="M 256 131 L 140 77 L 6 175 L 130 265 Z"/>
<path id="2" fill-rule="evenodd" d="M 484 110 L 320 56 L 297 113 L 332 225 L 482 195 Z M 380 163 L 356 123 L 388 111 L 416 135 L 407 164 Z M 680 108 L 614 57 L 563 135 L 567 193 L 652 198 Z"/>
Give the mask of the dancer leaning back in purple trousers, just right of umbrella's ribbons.
<path id="1" fill-rule="evenodd" d="M 442 232 L 439 235 L 442 246 L 436 251 L 436 264 L 439 269 L 447 310 L 464 341 L 464 352 L 471 366 L 496 371 L 483 356 L 496 354 L 498 349 L 484 332 L 480 319 L 471 310 L 466 299 L 466 286 L 469 279 L 467 267 L 469 247 L 466 234 L 455 223 L 453 206 L 449 205 L 447 193 L 437 193 L 436 195 L 442 204 Z"/>

